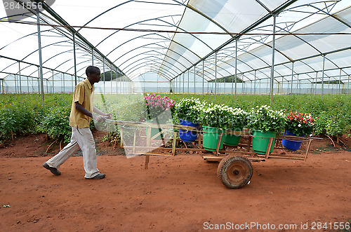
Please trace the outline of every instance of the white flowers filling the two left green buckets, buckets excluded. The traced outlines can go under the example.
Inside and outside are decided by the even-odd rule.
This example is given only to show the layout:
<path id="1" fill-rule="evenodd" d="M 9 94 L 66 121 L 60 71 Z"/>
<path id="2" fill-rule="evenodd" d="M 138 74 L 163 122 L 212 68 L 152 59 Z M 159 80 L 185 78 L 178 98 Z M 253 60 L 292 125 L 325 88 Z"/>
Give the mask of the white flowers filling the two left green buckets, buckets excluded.
<path id="1" fill-rule="evenodd" d="M 247 113 L 239 108 L 233 109 L 225 104 L 208 104 L 200 108 L 200 123 L 213 128 L 235 130 L 244 127 L 247 122 Z"/>

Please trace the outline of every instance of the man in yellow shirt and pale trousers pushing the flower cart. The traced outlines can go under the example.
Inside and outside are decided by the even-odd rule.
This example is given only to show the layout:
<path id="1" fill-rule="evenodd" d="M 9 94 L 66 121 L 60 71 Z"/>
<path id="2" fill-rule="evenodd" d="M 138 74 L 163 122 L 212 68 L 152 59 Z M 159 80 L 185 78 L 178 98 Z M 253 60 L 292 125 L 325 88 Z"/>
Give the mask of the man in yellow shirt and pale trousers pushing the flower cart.
<path id="1" fill-rule="evenodd" d="M 95 141 L 89 128 L 91 118 L 100 122 L 104 117 L 111 118 L 111 114 L 105 114 L 93 106 L 94 83 L 100 81 L 100 69 L 89 66 L 86 68 L 87 78 L 81 81 L 74 88 L 72 109 L 69 116 L 69 125 L 72 127 L 71 142 L 65 146 L 56 156 L 44 163 L 44 168 L 48 169 L 53 175 L 61 175 L 60 165 L 76 153 L 79 148 L 83 153 L 84 170 L 86 179 L 102 179 L 105 174 L 98 170 L 96 161 Z M 92 113 L 96 114 L 92 114 Z"/>

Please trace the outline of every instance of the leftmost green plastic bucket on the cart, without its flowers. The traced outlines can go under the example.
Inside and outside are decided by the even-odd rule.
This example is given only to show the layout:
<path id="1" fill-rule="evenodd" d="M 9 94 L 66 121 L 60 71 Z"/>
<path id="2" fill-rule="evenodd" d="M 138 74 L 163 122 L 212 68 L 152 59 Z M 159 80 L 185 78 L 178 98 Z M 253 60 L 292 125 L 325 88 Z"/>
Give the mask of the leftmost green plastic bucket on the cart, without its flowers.
<path id="1" fill-rule="evenodd" d="M 220 132 L 224 132 L 223 129 L 213 128 L 211 126 L 202 127 L 202 146 L 207 151 L 216 151 Z M 224 135 L 224 134 L 223 134 Z M 220 149 L 223 148 L 223 137 L 220 139 Z"/>

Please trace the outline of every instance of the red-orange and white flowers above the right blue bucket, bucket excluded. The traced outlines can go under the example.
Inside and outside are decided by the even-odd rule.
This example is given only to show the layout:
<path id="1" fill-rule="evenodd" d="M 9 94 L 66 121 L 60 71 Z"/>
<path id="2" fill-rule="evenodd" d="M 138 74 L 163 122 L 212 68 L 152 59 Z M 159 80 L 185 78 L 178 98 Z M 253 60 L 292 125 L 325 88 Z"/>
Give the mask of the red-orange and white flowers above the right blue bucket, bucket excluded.
<path id="1" fill-rule="evenodd" d="M 295 135 L 310 135 L 313 132 L 314 118 L 308 113 L 299 113 L 298 111 L 286 114 L 285 129 L 293 132 Z"/>

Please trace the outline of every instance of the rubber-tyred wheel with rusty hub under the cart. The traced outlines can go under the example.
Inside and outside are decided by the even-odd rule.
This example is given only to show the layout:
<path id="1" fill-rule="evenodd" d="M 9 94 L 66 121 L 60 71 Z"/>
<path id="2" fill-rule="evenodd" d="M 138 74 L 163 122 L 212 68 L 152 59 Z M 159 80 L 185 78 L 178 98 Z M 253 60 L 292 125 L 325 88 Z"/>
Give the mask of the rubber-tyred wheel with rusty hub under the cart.
<path id="1" fill-rule="evenodd" d="M 253 168 L 243 156 L 227 156 L 220 161 L 217 169 L 220 181 L 229 189 L 240 189 L 249 183 Z"/>

